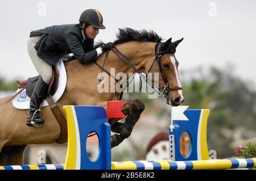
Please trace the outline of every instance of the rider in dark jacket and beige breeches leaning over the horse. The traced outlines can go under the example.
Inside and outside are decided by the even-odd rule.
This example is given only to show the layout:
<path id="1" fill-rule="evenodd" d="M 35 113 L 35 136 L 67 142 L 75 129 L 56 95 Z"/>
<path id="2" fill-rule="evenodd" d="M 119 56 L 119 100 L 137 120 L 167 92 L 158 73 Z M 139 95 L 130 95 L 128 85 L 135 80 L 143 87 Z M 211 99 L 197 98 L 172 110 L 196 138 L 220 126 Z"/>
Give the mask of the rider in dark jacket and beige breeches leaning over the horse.
<path id="1" fill-rule="evenodd" d="M 105 29 L 103 18 L 99 11 L 88 9 L 82 12 L 79 24 L 64 24 L 46 27 L 32 31 L 27 43 L 30 58 L 39 73 L 30 100 L 30 114 L 27 125 L 41 127 L 44 120 L 40 118 L 40 104 L 46 97 L 48 85 L 52 77 L 52 65 L 55 65 L 64 54 L 73 53 L 81 63 L 96 61 L 104 51 L 110 50 L 113 43 L 101 45 L 94 49 L 94 39 L 99 29 Z"/>

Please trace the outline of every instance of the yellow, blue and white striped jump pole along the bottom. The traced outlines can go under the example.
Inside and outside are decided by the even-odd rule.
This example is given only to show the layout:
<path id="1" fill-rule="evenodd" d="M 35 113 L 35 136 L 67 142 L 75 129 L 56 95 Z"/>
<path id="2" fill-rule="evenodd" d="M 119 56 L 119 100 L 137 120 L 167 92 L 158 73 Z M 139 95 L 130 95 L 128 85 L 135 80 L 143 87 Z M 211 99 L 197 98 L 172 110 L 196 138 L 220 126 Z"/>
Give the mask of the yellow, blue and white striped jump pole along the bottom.
<path id="1" fill-rule="evenodd" d="M 210 170 L 256 168 L 256 158 L 213 159 L 202 161 L 127 161 L 112 162 L 112 170 Z M 64 164 L 0 166 L 0 170 L 63 170 Z"/>

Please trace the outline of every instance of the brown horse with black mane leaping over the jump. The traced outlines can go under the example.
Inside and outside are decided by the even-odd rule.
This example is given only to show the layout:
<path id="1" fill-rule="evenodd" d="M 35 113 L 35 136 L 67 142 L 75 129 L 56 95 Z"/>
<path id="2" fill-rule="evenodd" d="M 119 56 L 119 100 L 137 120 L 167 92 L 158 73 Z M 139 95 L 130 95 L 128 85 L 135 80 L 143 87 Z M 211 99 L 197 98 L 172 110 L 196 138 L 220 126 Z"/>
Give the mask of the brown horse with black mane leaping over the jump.
<path id="1" fill-rule="evenodd" d="M 181 40 L 174 43 L 171 39 L 162 42 L 162 37 L 154 31 L 134 30 L 131 28 L 119 29 L 115 48 L 122 52 L 130 61 L 133 68 L 113 50 L 101 54 L 96 62 L 104 65 L 104 70 L 115 68 L 115 72 L 122 72 L 129 77 L 129 73 L 159 73 L 159 90 L 166 96 L 167 104 L 179 106 L 184 101 L 184 94 L 179 81 L 177 66 L 179 62 L 175 57 L 175 48 Z M 161 46 L 160 46 L 161 45 Z M 98 45 L 99 46 L 99 45 Z M 172 49 L 172 51 L 170 51 Z M 106 56 L 108 53 L 108 56 Z M 107 102 L 119 100 L 121 92 L 99 92 L 97 90 L 98 74 L 102 68 L 95 63 L 82 65 L 77 60 L 65 63 L 67 72 L 67 85 L 57 106 L 65 105 L 89 105 L 102 106 L 106 109 Z M 60 136 L 60 125 L 55 119 L 49 106 L 42 108 L 45 123 L 42 128 L 28 127 L 26 120 L 29 110 L 18 110 L 11 102 L 0 99 L 0 165 L 22 165 L 24 162 L 24 149 L 30 144 L 54 144 Z M 137 123 L 145 106 L 141 99 L 125 100 L 121 107 L 124 115 L 127 115 L 125 123 L 120 119 L 109 119 L 112 132 L 112 147 L 117 146 L 125 138 L 129 137 L 135 123 Z M 61 114 L 65 117 L 64 110 Z M 67 142 L 67 141 L 66 141 Z"/>

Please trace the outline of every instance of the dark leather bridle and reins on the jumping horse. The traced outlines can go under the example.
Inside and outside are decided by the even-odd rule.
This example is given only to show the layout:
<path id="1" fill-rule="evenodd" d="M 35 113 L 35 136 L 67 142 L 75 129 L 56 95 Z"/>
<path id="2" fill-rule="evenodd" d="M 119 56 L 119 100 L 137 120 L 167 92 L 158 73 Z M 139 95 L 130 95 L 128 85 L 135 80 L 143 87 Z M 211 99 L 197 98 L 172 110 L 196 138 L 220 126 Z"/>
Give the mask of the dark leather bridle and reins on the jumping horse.
<path id="1" fill-rule="evenodd" d="M 152 62 L 152 65 L 150 66 L 150 69 L 148 70 L 148 72 L 146 73 L 146 75 L 139 73 L 139 70 L 138 70 L 137 68 L 135 68 L 135 66 L 134 66 L 133 64 L 131 64 L 131 62 L 128 60 L 128 58 L 125 57 L 125 55 L 123 55 L 116 47 L 113 47 L 112 50 L 113 50 L 113 52 L 114 52 L 115 54 L 117 54 L 117 56 L 118 56 L 119 58 L 121 58 L 121 60 L 125 61 L 126 64 L 128 64 L 128 65 L 130 66 L 130 68 L 132 68 L 136 73 L 138 73 L 139 76 L 140 76 L 142 79 L 144 79 L 144 80 L 152 87 L 152 89 L 154 89 L 156 92 L 158 92 L 158 95 L 163 95 L 163 94 L 164 94 L 164 96 L 167 97 L 167 95 L 168 95 L 168 93 L 169 93 L 170 91 L 182 90 L 182 87 L 173 87 L 173 88 L 171 88 L 171 87 L 169 86 L 169 84 L 168 84 L 168 80 L 167 80 L 167 78 L 166 78 L 166 74 L 164 73 L 163 66 L 162 66 L 162 64 L 161 64 L 161 57 L 162 57 L 162 55 L 165 53 L 165 52 L 160 52 L 160 46 L 161 46 L 162 44 L 163 44 L 163 43 L 157 43 L 157 44 L 155 45 L 155 59 L 154 59 L 154 61 Z M 104 60 L 104 65 L 105 65 L 105 61 L 106 61 L 107 56 L 108 56 L 108 52 L 106 52 L 106 56 L 105 56 L 105 60 Z M 162 75 L 163 82 L 164 82 L 164 84 L 161 85 L 160 87 L 155 86 L 155 85 L 154 85 L 154 82 L 151 82 L 151 81 L 147 78 L 147 75 L 148 75 L 148 73 L 150 73 L 150 71 L 151 71 L 153 65 L 155 64 L 155 61 L 158 62 L 159 70 L 160 70 L 160 73 L 161 73 L 161 75 Z M 110 74 L 108 70 L 104 69 L 104 66 L 102 67 L 102 66 L 101 66 L 100 64 L 98 64 L 97 62 L 95 62 L 95 64 L 96 64 L 97 66 L 99 66 L 102 71 L 105 71 L 105 72 L 108 73 L 111 77 L 113 77 L 113 78 L 115 79 L 115 77 L 114 77 L 112 74 Z M 115 81 L 118 82 L 117 79 L 115 79 Z M 127 82 L 127 85 L 129 85 L 129 82 Z M 122 99 L 122 93 L 123 93 L 123 91 L 121 92 L 121 98 L 119 98 L 119 100 Z"/>

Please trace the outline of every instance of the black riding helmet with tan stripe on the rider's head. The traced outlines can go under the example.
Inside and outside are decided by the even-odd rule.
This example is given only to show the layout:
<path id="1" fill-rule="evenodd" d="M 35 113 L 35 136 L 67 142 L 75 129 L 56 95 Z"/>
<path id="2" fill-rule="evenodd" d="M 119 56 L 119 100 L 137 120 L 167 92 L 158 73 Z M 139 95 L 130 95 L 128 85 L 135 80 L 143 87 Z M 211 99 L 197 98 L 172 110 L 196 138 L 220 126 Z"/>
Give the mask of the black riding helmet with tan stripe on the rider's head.
<path id="1" fill-rule="evenodd" d="M 82 12 L 79 22 L 87 22 L 98 29 L 105 29 L 106 27 L 102 24 L 103 18 L 100 12 L 95 9 L 88 9 Z"/>

